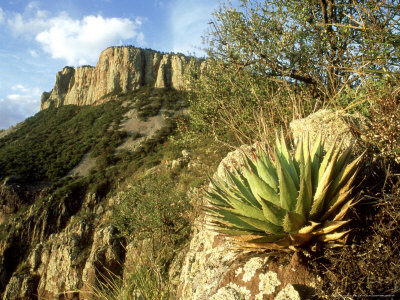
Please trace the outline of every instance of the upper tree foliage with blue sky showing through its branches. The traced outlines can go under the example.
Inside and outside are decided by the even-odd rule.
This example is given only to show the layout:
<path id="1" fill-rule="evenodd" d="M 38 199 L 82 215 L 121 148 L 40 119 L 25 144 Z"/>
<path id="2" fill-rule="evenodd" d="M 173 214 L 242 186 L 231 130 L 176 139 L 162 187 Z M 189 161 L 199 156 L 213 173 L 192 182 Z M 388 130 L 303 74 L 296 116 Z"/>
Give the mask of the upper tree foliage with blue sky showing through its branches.
<path id="1" fill-rule="evenodd" d="M 396 1 L 241 0 L 214 13 L 210 57 L 333 98 L 363 76 L 398 71 Z"/>

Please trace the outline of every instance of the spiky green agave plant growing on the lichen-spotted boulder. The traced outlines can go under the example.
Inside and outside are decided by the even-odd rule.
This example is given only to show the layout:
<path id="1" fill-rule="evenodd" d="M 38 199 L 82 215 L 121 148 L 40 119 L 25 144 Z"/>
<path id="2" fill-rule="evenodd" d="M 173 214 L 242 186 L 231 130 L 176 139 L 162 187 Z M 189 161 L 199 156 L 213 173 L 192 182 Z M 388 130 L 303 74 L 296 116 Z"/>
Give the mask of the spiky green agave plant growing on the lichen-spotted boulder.
<path id="1" fill-rule="evenodd" d="M 324 151 L 321 135 L 310 147 L 303 137 L 290 155 L 283 134 L 274 159 L 259 146 L 244 165 L 215 177 L 206 191 L 210 225 L 242 247 L 297 249 L 305 245 L 338 246 L 348 231 L 337 230 L 354 199 L 352 183 L 361 157 L 351 163 L 351 147 L 334 142 Z"/>

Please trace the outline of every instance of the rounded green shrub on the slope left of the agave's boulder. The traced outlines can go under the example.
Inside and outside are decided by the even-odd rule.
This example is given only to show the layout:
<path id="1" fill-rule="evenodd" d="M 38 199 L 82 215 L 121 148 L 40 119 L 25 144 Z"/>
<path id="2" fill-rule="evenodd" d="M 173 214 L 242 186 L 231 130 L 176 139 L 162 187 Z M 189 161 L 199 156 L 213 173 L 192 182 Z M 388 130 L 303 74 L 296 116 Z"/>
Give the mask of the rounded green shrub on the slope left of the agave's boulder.
<path id="1" fill-rule="evenodd" d="M 124 236 L 175 243 L 188 233 L 188 209 L 174 178 L 153 174 L 135 180 L 115 207 L 113 220 Z"/>

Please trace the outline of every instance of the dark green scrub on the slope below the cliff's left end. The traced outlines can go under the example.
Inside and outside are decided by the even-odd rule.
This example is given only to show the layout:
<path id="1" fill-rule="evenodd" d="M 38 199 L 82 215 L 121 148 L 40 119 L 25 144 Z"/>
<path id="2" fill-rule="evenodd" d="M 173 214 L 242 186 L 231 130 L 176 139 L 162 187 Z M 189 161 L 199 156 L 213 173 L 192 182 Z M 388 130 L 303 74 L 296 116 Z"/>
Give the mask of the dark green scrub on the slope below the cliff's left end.
<path id="1" fill-rule="evenodd" d="M 99 140 L 100 144 L 108 143 L 111 147 L 121 140 L 122 133 L 109 133 L 108 126 L 119 121 L 125 110 L 120 102 L 111 101 L 99 106 L 68 105 L 37 113 L 18 130 L 0 139 L 0 177 L 17 175 L 35 182 L 65 176 Z"/>

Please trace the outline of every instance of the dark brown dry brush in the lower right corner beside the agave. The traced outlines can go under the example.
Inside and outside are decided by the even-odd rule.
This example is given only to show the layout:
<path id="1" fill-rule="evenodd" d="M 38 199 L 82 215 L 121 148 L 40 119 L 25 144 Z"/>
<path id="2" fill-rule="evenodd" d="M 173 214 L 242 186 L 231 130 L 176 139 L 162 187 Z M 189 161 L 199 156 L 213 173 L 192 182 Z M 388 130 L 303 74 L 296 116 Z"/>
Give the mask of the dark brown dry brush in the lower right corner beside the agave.
<path id="1" fill-rule="evenodd" d="M 313 261 L 323 279 L 318 299 L 400 296 L 400 177 L 386 179 L 381 193 L 364 195 L 353 209 L 349 245 L 326 250 Z"/>

